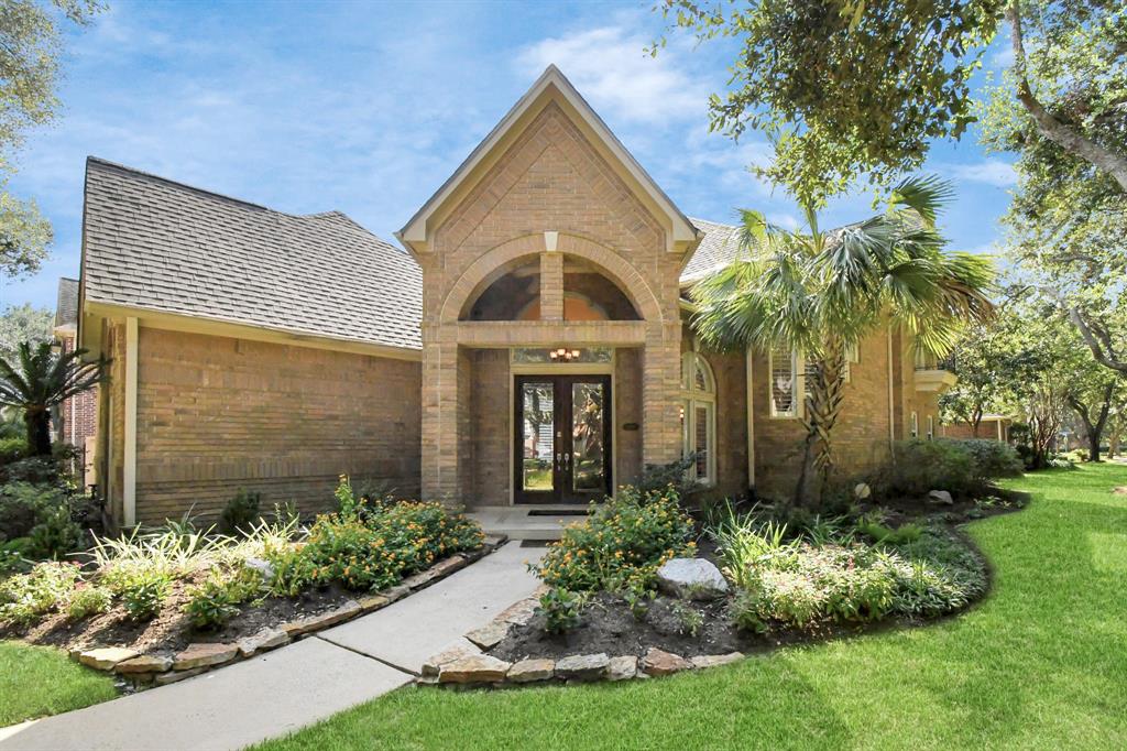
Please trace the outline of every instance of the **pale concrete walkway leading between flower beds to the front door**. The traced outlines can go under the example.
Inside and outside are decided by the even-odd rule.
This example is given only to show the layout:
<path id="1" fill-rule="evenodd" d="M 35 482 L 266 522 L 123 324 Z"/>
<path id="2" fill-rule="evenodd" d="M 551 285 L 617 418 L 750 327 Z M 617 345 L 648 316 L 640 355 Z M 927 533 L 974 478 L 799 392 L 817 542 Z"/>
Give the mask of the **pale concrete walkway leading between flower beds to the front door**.
<path id="1" fill-rule="evenodd" d="M 509 542 L 383 610 L 230 668 L 105 704 L 0 728 L 0 750 L 240 749 L 403 686 L 425 659 L 529 597 Z"/>

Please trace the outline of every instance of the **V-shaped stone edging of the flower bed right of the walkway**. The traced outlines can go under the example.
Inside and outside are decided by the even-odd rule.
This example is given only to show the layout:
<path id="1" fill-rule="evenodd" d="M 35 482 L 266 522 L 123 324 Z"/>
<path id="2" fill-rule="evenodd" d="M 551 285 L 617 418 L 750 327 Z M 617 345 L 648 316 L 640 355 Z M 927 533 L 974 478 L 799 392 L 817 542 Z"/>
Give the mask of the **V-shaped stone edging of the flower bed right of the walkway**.
<path id="1" fill-rule="evenodd" d="M 559 660 L 532 659 L 511 663 L 486 654 L 500 644 L 513 626 L 524 626 L 532 619 L 539 595 L 547 587 L 521 600 L 490 622 L 476 628 L 423 663 L 423 674 L 416 683 L 456 686 L 526 684 L 541 681 L 589 682 L 671 675 L 684 670 L 726 665 L 744 659 L 742 652 L 682 657 L 650 647 L 645 655 L 610 656 L 605 653 L 584 654 Z"/>

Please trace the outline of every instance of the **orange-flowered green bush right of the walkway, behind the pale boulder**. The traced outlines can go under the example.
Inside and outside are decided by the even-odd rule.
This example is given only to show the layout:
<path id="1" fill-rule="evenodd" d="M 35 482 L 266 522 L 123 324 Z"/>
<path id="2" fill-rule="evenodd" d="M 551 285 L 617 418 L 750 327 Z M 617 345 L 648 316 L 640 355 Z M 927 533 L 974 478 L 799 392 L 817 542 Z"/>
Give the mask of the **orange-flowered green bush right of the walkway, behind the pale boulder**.
<path id="1" fill-rule="evenodd" d="M 621 488 L 592 504 L 587 519 L 567 527 L 530 568 L 547 584 L 577 592 L 653 589 L 663 563 L 693 554 L 692 539 L 692 519 L 672 488 Z"/>

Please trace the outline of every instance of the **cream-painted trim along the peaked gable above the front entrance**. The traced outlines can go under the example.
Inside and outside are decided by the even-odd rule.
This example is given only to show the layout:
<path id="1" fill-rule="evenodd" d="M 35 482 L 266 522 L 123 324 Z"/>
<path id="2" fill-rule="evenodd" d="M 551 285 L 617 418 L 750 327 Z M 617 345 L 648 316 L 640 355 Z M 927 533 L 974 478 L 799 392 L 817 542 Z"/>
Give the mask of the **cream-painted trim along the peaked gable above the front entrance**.
<path id="1" fill-rule="evenodd" d="M 423 204 L 423 207 L 411 217 L 407 224 L 396 232 L 396 238 L 414 250 L 425 249 L 429 230 L 433 229 L 428 227 L 429 218 L 446 204 L 447 200 L 455 194 L 474 169 L 495 152 L 497 147 L 516 127 L 517 123 L 525 115 L 533 112 L 533 108 L 538 103 L 543 101 L 544 97 L 554 97 L 570 107 L 576 113 L 578 120 L 591 129 L 595 140 L 607 150 L 611 158 L 624 168 L 630 179 L 637 185 L 638 193 L 651 202 L 657 207 L 659 214 L 665 215 L 668 222 L 667 230 L 669 231 L 671 249 L 675 246 L 684 249 L 700 239 L 700 235 L 692 222 L 681 213 L 681 210 L 677 209 L 669 196 L 665 194 L 660 186 L 654 182 L 654 178 L 649 176 L 649 173 L 622 145 L 622 142 L 611 132 L 611 129 L 606 126 L 603 118 L 587 104 L 587 100 L 583 98 L 556 65 L 549 65 L 544 70 L 525 95 L 513 105 L 513 108 L 506 113 L 481 143 L 470 152 L 465 161 L 454 170 L 454 174 Z"/>

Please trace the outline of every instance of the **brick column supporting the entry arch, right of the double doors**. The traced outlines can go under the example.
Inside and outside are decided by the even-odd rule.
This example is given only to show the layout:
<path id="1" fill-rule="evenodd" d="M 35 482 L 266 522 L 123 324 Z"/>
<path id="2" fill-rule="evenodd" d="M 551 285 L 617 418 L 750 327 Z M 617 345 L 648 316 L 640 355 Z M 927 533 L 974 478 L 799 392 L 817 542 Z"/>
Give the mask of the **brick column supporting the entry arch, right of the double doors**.
<path id="1" fill-rule="evenodd" d="M 681 458 L 681 323 L 647 327 L 642 353 L 642 463 Z"/>

